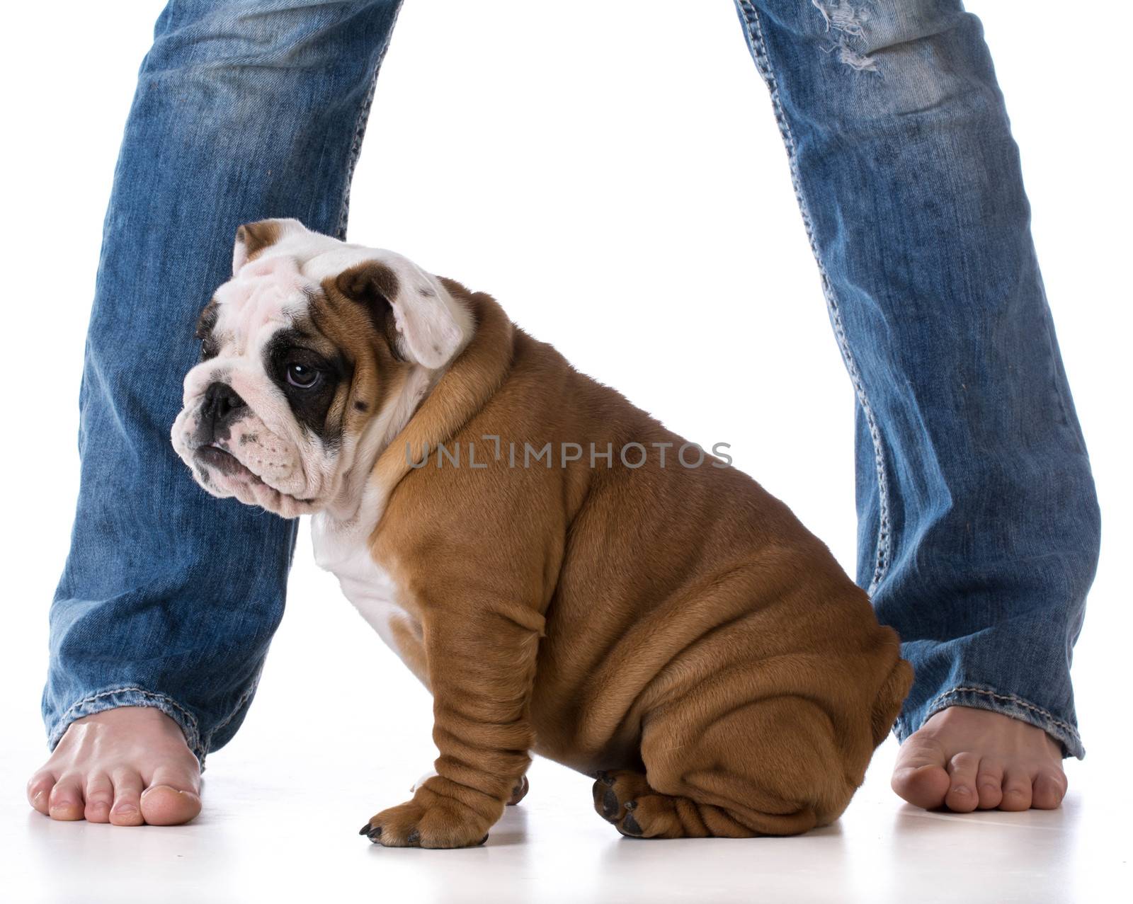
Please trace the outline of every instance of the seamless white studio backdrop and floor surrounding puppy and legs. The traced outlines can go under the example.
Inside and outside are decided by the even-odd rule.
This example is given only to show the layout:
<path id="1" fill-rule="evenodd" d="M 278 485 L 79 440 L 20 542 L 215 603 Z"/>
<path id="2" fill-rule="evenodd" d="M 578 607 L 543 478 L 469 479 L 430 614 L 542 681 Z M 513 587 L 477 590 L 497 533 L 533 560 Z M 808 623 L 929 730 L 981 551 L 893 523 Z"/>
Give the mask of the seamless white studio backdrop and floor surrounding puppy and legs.
<path id="1" fill-rule="evenodd" d="M 316 572 L 304 538 L 248 723 L 210 757 L 204 815 L 181 828 L 117 829 L 32 812 L 24 783 L 44 757 L 37 700 L 48 600 L 78 479 L 74 399 L 86 309 L 121 125 L 161 2 L 119 3 L 112 18 L 104 6 L 68 3 L 62 17 L 57 5 L 3 10 L 9 31 L 50 33 L 53 50 L 34 40 L 6 45 L 22 87 L 36 89 L 8 92 L 5 121 L 44 134 L 63 110 L 83 145 L 77 154 L 60 142 L 6 148 L 19 173 L 6 184 L 16 215 L 3 247 L 19 262 L 9 282 L 50 272 L 52 299 L 46 316 L 43 305 L 6 309 L 7 332 L 37 341 L 8 343 L 7 370 L 34 374 L 35 387 L 0 400 L 3 423 L 20 425 L 0 446 L 8 478 L 2 904 L 1133 901 L 1133 470 L 1121 415 L 1128 410 L 1130 205 L 1125 118 L 1113 114 L 1125 96 L 1126 39 L 1125 29 L 1098 28 L 1094 16 L 1067 15 L 1066 5 L 1050 15 L 1054 3 L 971 6 L 987 25 L 1023 148 L 1043 280 L 1102 500 L 1102 564 L 1074 657 L 1089 756 L 1068 765 L 1062 810 L 911 809 L 887 786 L 889 742 L 840 824 L 800 838 L 623 839 L 593 812 L 588 779 L 537 762 L 528 799 L 486 847 L 373 847 L 358 827 L 403 800 L 429 764 L 429 701 L 334 580 Z M 560 6 L 406 3 L 355 179 L 351 236 L 420 251 L 423 263 L 497 295 L 535 335 L 674 428 L 733 443 L 739 466 L 852 570 L 852 396 L 777 127 L 734 12 L 705 2 L 571 5 L 583 15 Z M 693 6 L 705 15 L 685 15 Z M 1088 53 L 1089 91 L 1066 77 L 1065 63 L 1037 52 L 1051 44 Z M 451 142 L 428 140 L 438 114 L 446 135 L 471 136 L 455 156 Z M 390 140 L 389 122 L 409 139 Z M 742 163 L 744 178 L 724 162 Z M 452 199 L 460 215 L 448 215 Z M 476 212 L 476 228 L 462 211 Z M 579 251 L 582 264 L 564 272 Z M 722 335 L 713 317 L 687 316 L 690 297 L 740 298 L 746 318 L 731 305 Z M 710 392 L 690 394 L 687 368 L 668 366 L 690 347 L 710 351 Z"/>

